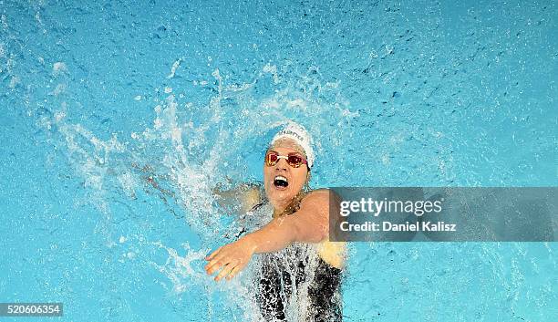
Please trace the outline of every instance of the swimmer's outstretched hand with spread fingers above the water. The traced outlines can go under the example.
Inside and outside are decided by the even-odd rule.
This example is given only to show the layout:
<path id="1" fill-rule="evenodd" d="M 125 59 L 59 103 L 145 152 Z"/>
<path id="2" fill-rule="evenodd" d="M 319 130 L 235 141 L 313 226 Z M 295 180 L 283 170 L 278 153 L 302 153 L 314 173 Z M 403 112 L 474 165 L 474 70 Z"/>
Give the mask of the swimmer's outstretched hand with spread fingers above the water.
<path id="1" fill-rule="evenodd" d="M 243 236 L 238 241 L 225 244 L 209 256 L 206 256 L 205 260 L 209 261 L 209 263 L 205 265 L 205 271 L 208 275 L 212 275 L 222 268 L 221 272 L 215 276 L 215 281 L 219 281 L 222 277 L 231 280 L 234 275 L 237 275 L 248 265 L 254 251 L 255 244 L 250 239 L 250 235 Z"/>

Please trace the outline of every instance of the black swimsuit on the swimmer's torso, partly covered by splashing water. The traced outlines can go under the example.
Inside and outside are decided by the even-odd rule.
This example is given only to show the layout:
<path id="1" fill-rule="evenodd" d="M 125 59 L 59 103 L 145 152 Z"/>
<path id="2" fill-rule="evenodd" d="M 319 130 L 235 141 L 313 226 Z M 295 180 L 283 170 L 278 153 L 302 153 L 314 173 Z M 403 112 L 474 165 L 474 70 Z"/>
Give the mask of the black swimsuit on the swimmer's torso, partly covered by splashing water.
<path id="1" fill-rule="evenodd" d="M 325 263 L 318 254 L 314 254 L 315 271 L 314 274 L 307 276 L 305 266 L 312 260 L 311 255 L 294 245 L 289 248 L 286 259 L 285 252 L 260 254 L 262 266 L 261 275 L 258 275 L 259 287 L 256 301 L 260 306 L 263 319 L 266 322 L 286 321 L 284 306 L 288 303 L 288 298 L 293 295 L 292 273 L 294 273 L 295 292 L 303 288 L 299 287 L 301 284 L 307 285 L 308 306 L 303 320 L 342 321 L 340 297 L 342 270 Z"/>

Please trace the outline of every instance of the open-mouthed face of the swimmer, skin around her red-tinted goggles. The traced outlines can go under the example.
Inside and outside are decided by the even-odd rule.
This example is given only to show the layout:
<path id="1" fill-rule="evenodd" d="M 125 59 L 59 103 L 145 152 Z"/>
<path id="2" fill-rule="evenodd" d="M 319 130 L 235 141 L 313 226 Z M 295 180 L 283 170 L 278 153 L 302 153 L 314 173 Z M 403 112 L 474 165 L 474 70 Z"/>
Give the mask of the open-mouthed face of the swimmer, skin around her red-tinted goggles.
<path id="1" fill-rule="evenodd" d="M 267 150 L 269 151 L 275 151 L 282 156 L 295 153 L 306 159 L 303 149 L 291 139 L 275 141 Z M 298 168 L 290 166 L 285 159 L 279 159 L 273 166 L 263 163 L 265 194 L 275 209 L 283 210 L 294 199 L 307 182 L 308 174 L 308 167 L 304 163 Z"/>

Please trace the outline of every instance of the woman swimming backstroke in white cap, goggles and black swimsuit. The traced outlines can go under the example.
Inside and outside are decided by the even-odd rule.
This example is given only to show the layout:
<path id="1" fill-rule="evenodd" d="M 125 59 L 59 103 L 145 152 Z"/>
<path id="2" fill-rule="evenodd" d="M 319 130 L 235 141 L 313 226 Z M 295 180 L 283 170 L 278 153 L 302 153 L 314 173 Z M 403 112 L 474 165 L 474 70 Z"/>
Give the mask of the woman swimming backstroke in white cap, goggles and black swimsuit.
<path id="1" fill-rule="evenodd" d="M 292 294 L 292 278 L 288 272 L 293 271 L 294 286 L 307 287 L 307 307 L 302 313 L 306 321 L 342 319 L 339 287 L 345 265 L 345 243 L 328 241 L 329 200 L 333 194 L 325 189 L 308 192 L 313 163 L 310 136 L 300 125 L 289 123 L 274 136 L 265 154 L 263 188 L 267 202 L 273 206 L 271 221 L 206 257 L 207 274 L 221 270 L 215 277 L 218 281 L 230 280 L 248 265 L 253 254 L 262 254 L 256 299 L 266 321 L 285 320 L 284 309 Z M 261 205 L 254 205 L 253 210 Z M 295 244 L 315 246 L 306 247 L 306 250 L 314 249 L 314 256 Z M 285 257 L 283 260 L 274 257 L 284 249 L 292 250 L 286 264 Z M 313 267 L 313 272 L 307 272 L 307 267 Z"/>

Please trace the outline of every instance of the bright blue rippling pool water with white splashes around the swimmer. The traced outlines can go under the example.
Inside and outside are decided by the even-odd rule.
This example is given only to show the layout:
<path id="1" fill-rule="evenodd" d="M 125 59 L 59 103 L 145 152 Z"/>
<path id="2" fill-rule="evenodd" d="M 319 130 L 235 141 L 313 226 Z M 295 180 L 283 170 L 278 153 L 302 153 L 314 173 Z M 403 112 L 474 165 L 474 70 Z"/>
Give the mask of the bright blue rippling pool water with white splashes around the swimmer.
<path id="1" fill-rule="evenodd" d="M 286 119 L 313 187 L 556 186 L 557 21 L 552 0 L 0 0 L 0 302 L 257 321 L 245 275 L 202 270 L 235 228 L 211 191 L 261 180 Z M 556 321 L 556 252 L 350 244 L 345 320 Z"/>

